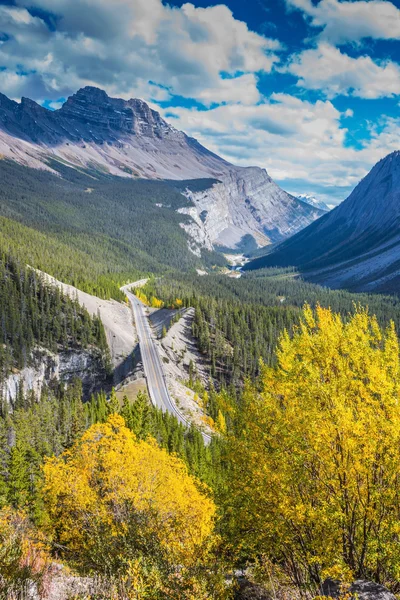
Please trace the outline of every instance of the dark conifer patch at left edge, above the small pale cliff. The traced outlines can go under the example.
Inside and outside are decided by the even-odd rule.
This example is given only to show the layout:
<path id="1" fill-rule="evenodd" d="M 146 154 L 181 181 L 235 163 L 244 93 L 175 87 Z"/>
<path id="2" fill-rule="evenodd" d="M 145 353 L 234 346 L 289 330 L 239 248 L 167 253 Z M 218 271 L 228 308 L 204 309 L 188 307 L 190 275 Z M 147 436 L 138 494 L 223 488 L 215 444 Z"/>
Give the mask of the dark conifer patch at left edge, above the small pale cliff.
<path id="1" fill-rule="evenodd" d="M 0 255 L 0 385 L 12 369 L 32 364 L 37 348 L 58 352 L 93 347 L 108 368 L 103 324 L 30 268 Z"/>

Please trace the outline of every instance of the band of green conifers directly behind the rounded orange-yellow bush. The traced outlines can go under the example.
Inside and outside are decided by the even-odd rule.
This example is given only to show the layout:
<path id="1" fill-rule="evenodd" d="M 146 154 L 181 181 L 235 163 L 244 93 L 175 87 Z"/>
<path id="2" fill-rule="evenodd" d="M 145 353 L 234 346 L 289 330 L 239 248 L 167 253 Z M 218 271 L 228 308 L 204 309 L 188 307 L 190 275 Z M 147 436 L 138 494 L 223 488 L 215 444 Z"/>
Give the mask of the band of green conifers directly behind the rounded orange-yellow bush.
<path id="1" fill-rule="evenodd" d="M 54 383 L 40 398 L 21 391 L 14 410 L 0 406 L 0 508 L 6 504 L 26 508 L 38 519 L 41 466 L 45 456 L 58 456 L 93 423 L 120 413 L 138 439 L 154 438 L 182 458 L 191 473 L 215 485 L 221 477 L 218 440 L 205 447 L 195 428 L 186 430 L 175 417 L 153 408 L 145 394 L 132 404 L 120 405 L 114 392 L 107 400 L 100 392 L 84 403 L 77 379 L 67 388 Z"/>

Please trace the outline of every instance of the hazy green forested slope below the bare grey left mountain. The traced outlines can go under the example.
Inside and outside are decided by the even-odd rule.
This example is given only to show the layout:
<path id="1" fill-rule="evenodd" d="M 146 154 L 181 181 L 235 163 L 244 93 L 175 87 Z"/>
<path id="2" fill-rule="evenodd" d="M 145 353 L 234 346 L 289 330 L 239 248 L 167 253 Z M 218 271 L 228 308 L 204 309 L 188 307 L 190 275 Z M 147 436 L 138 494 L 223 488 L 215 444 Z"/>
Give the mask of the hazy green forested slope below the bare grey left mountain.
<path id="1" fill-rule="evenodd" d="M 188 249 L 185 182 L 111 177 L 52 163 L 60 176 L 0 161 L 0 250 L 101 297 L 148 272 L 222 265 Z M 194 189 L 210 185 L 194 182 Z"/>

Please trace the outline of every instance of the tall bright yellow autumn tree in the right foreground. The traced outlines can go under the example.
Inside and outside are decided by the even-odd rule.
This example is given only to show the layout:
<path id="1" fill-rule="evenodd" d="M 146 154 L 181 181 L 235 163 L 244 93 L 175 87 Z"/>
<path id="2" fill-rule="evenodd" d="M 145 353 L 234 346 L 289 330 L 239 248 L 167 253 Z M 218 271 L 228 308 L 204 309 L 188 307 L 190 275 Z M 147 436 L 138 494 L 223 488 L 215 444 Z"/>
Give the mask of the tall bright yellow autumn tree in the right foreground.
<path id="1" fill-rule="evenodd" d="M 400 378 L 394 326 L 304 309 L 249 386 L 230 439 L 232 547 L 292 580 L 400 579 Z"/>

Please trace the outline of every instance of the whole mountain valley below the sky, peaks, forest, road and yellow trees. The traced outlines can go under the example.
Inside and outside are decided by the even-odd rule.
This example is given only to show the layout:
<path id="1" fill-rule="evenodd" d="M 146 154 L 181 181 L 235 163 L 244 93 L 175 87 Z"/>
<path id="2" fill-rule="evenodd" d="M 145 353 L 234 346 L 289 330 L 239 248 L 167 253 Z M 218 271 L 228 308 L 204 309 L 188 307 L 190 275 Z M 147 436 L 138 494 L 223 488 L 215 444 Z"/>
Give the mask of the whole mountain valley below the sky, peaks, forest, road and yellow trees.
<path id="1" fill-rule="evenodd" d="M 0 596 L 397 593 L 400 154 L 329 211 L 93 86 L 0 152 Z"/>

